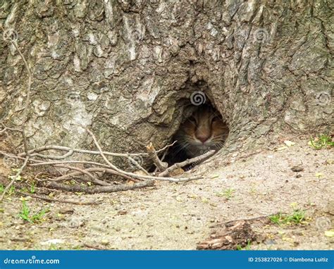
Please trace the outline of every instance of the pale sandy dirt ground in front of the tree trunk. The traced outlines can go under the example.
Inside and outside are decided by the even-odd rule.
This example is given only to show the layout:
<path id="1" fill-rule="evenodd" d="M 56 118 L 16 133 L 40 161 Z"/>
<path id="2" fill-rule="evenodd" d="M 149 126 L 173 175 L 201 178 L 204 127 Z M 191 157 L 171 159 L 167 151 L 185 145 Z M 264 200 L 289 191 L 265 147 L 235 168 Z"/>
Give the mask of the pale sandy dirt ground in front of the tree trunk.
<path id="1" fill-rule="evenodd" d="M 49 208 L 40 223 L 19 218 L 23 197 L 8 194 L 0 204 L 0 249 L 196 249 L 217 223 L 296 208 L 305 211 L 302 224 L 253 225 L 258 240 L 250 249 L 333 249 L 334 237 L 325 234 L 334 224 L 333 159 L 333 150 L 317 151 L 302 140 L 225 167 L 201 165 L 204 180 L 111 194 L 54 191 L 57 199 L 102 203 L 27 199 L 32 212 Z M 292 171 L 295 165 L 303 170 Z M 1 166 L 2 180 L 8 172 Z"/>

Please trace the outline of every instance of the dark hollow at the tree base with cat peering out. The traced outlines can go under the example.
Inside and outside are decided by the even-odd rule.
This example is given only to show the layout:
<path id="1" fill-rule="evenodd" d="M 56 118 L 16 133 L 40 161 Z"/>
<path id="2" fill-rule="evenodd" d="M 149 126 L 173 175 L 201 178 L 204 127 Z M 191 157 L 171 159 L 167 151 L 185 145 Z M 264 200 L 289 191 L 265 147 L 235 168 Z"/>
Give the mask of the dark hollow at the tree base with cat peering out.
<path id="1" fill-rule="evenodd" d="M 218 152 L 228 137 L 228 125 L 221 113 L 205 98 L 203 92 L 194 92 L 183 109 L 183 118 L 172 141 L 177 141 L 166 154 L 168 165 L 180 163 L 208 151 Z M 199 163 L 186 165 L 190 170 Z"/>

